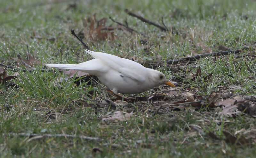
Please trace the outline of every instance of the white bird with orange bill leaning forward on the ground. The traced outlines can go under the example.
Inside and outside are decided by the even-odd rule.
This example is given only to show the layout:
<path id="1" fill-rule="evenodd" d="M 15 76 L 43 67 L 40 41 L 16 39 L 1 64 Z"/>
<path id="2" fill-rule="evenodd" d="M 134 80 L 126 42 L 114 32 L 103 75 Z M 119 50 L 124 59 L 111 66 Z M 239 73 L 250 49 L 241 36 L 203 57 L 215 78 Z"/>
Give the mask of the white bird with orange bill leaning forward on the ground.
<path id="1" fill-rule="evenodd" d="M 165 75 L 139 63 L 115 55 L 85 50 L 92 60 L 79 64 L 45 64 L 49 68 L 76 69 L 95 75 L 114 94 L 136 94 L 167 84 L 175 87 Z"/>

